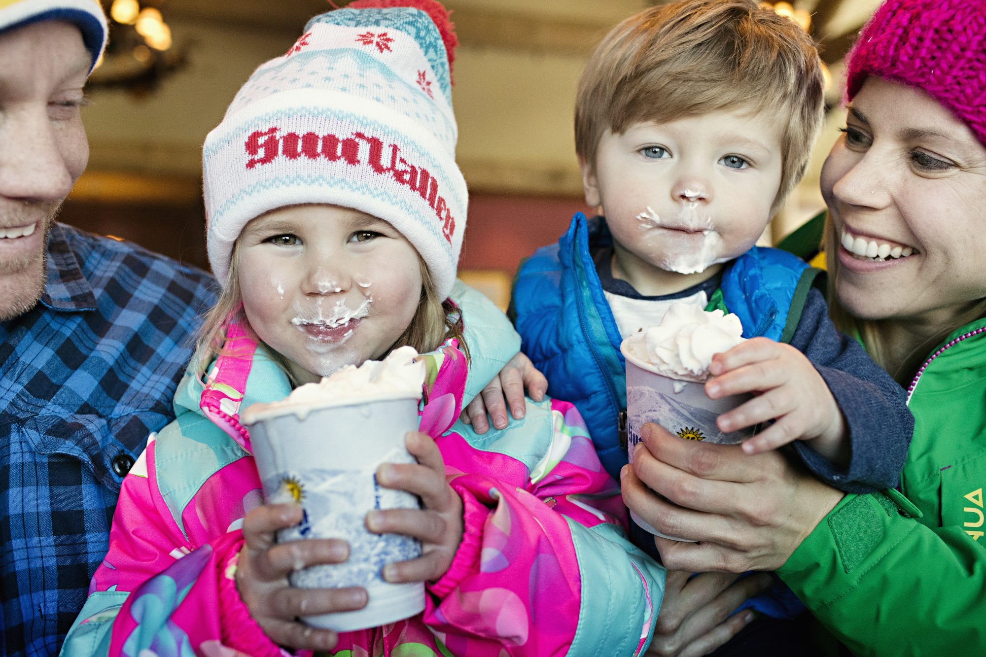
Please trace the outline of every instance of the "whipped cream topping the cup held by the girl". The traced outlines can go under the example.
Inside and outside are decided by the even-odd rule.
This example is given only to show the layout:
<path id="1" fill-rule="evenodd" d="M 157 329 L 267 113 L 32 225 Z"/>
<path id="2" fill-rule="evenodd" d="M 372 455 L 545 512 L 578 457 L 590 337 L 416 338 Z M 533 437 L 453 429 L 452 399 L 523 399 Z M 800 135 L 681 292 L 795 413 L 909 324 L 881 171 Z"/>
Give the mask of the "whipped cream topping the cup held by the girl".
<path id="1" fill-rule="evenodd" d="M 318 383 L 299 386 L 281 401 L 254 403 L 244 410 L 243 420 L 257 420 L 285 412 L 307 412 L 314 407 L 374 401 L 381 398 L 420 399 L 425 383 L 425 363 L 415 360 L 411 346 L 391 351 L 384 360 L 368 360 L 359 367 L 347 365 Z"/>

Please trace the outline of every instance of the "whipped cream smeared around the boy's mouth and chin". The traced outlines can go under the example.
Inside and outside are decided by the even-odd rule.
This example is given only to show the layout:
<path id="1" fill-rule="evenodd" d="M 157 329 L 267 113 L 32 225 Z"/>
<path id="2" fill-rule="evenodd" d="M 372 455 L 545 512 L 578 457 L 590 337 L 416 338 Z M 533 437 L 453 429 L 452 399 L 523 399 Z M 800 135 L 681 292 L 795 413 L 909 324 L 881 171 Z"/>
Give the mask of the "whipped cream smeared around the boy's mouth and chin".
<path id="1" fill-rule="evenodd" d="M 671 243 L 669 240 L 661 245 L 664 257 L 655 264 L 666 271 L 679 274 L 701 273 L 713 264 L 730 259 L 722 256 L 723 238 L 716 232 L 712 218 L 698 211 L 697 202 L 685 203 L 677 217 L 671 221 L 662 219 L 651 206 L 647 206 L 636 219 L 640 222 L 640 230 L 664 228 L 687 235 L 686 241 L 681 244 Z"/>

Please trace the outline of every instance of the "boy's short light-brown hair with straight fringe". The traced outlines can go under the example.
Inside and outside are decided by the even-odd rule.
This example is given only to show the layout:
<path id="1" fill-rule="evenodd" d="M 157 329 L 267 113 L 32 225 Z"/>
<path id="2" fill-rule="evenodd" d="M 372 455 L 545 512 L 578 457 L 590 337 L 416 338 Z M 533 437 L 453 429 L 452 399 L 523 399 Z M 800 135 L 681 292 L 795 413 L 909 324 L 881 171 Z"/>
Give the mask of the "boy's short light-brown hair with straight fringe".
<path id="1" fill-rule="evenodd" d="M 575 148 L 596 165 L 606 129 L 719 110 L 779 110 L 777 210 L 801 181 L 824 111 L 821 60 L 794 21 L 755 0 L 684 0 L 639 12 L 596 48 L 579 81 Z"/>

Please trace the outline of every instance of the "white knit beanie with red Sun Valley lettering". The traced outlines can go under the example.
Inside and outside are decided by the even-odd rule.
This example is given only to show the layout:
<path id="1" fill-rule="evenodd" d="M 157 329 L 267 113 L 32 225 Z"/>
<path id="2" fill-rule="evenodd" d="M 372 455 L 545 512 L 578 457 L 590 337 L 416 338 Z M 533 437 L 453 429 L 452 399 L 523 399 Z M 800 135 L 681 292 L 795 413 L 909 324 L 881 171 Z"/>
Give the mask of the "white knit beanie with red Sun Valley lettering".
<path id="1" fill-rule="evenodd" d="M 436 0 L 358 0 L 312 19 L 287 53 L 260 65 L 203 148 L 217 278 L 251 219 L 325 203 L 389 222 L 447 297 L 467 203 L 455 157 L 455 45 Z"/>

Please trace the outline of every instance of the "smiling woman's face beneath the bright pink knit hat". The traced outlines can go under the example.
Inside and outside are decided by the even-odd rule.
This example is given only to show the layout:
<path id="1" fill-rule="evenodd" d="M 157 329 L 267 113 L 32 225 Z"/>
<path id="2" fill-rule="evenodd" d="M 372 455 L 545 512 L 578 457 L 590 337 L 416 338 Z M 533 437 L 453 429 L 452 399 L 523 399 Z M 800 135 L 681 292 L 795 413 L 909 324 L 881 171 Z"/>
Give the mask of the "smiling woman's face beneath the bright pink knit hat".
<path id="1" fill-rule="evenodd" d="M 986 148 L 924 92 L 870 76 L 821 192 L 855 316 L 942 324 L 986 296 Z"/>

